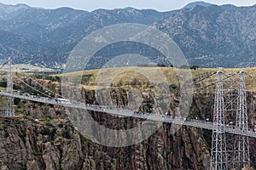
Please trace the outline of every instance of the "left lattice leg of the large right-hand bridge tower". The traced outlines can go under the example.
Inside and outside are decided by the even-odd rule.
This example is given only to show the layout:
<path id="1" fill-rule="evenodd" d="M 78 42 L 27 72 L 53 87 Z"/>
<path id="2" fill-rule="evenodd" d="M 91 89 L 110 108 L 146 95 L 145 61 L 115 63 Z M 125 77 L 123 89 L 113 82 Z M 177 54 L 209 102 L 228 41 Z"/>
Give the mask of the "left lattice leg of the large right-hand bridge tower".
<path id="1" fill-rule="evenodd" d="M 226 170 L 227 150 L 224 132 L 224 91 L 222 72 L 217 72 L 217 82 L 214 99 L 211 170 Z"/>

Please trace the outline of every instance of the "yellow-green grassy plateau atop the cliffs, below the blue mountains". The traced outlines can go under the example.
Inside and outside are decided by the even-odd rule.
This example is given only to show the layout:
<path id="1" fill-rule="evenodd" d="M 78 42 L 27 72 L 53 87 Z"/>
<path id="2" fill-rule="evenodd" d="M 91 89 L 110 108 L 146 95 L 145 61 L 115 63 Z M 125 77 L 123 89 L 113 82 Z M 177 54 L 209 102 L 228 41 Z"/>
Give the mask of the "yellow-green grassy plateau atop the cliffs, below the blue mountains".
<path id="1" fill-rule="evenodd" d="M 239 71 L 246 71 L 248 75 L 246 75 L 246 86 L 249 91 L 256 91 L 255 83 L 256 83 L 256 68 L 243 68 L 243 69 L 224 69 L 224 68 L 199 68 L 196 70 L 190 70 L 192 73 L 192 77 L 194 82 L 198 82 L 204 77 L 212 75 L 212 73 L 216 71 L 224 71 L 227 75 L 230 73 L 236 73 Z M 149 72 L 148 75 L 151 75 L 150 79 L 154 81 L 162 81 L 159 75 L 154 75 L 156 73 L 161 73 L 165 75 L 166 82 L 169 84 L 178 83 L 177 71 L 172 67 L 119 67 L 119 68 L 107 68 L 102 70 L 90 70 L 83 72 L 72 72 L 67 73 L 65 75 L 54 75 L 54 77 L 68 77 L 70 82 L 73 82 L 74 77 L 81 76 L 82 83 L 84 84 L 84 88 L 95 88 L 96 82 L 108 82 L 110 77 L 113 77 L 113 85 L 119 86 L 129 86 L 129 85 L 144 85 L 148 83 L 147 77 L 140 74 L 140 72 Z M 122 72 L 118 74 L 119 72 Z M 101 80 L 96 79 L 100 77 Z M 154 82 L 153 81 L 153 82 Z M 213 75 L 205 80 L 205 84 L 201 84 L 202 86 L 207 86 L 210 83 L 214 83 L 216 81 L 216 76 Z"/>

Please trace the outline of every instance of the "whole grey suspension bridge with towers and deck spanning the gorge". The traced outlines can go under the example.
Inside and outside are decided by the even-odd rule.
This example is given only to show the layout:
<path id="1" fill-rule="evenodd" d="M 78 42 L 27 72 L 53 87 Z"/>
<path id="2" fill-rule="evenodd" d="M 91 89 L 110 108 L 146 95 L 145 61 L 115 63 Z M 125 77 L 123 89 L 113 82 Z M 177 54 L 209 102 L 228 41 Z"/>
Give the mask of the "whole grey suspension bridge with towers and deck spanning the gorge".
<path id="1" fill-rule="evenodd" d="M 247 123 L 247 90 L 245 86 L 245 75 L 247 73 L 244 71 L 230 75 L 225 75 L 224 72 L 217 71 L 207 76 L 217 76 L 217 81 L 214 83 L 215 99 L 213 121 L 207 122 L 205 120 L 187 119 L 185 117 L 173 118 L 172 116 L 151 114 L 147 112 L 138 114 L 135 111 L 119 108 L 119 106 L 88 105 L 69 99 L 51 98 L 47 94 L 45 94 L 47 97 L 42 97 L 15 93 L 13 91 L 11 59 L 7 59 L 3 65 L 7 65 L 7 88 L 6 90 L 1 90 L 0 95 L 7 97 L 7 105 L 2 116 L 15 116 L 14 98 L 18 98 L 50 105 L 60 105 L 87 111 L 103 112 L 113 116 L 131 116 L 156 122 L 167 122 L 176 125 L 208 129 L 212 130 L 211 170 L 224 170 L 231 167 L 239 169 L 242 167 L 250 167 L 248 137 L 256 138 L 256 132 L 251 130 Z M 0 69 L 3 68 L 3 65 Z M 248 76 L 251 77 L 250 75 Z M 202 80 L 207 77 L 203 77 Z M 26 82 L 24 83 L 27 86 L 30 86 Z M 236 115 L 236 124 L 234 126 L 230 126 L 230 124 L 227 123 L 226 115 L 229 112 L 235 113 Z M 231 150 L 227 149 L 226 134 L 232 134 L 235 136 Z M 229 153 L 232 153 L 231 156 L 229 156 Z"/>

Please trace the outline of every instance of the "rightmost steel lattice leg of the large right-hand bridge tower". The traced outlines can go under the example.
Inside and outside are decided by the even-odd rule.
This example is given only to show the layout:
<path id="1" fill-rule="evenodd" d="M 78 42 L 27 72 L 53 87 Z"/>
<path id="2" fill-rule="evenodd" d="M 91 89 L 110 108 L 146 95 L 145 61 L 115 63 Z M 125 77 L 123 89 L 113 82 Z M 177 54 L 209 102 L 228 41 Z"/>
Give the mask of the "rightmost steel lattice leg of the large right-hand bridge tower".
<path id="1" fill-rule="evenodd" d="M 243 131 L 248 130 L 247 124 L 247 96 L 244 71 L 240 71 L 240 87 L 238 89 L 236 128 Z M 233 167 L 241 169 L 250 167 L 249 140 L 247 136 L 236 135 L 234 144 Z"/>

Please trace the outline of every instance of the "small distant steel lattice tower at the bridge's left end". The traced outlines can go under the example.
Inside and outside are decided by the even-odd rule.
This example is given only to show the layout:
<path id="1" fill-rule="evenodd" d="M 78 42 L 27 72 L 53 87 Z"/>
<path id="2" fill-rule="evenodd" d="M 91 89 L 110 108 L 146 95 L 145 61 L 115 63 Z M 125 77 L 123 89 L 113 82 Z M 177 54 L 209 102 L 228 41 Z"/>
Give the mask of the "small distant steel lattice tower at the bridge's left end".
<path id="1" fill-rule="evenodd" d="M 8 68 L 7 68 L 7 93 L 13 93 L 13 77 L 12 77 L 12 59 L 8 59 Z M 15 108 L 14 108 L 14 98 L 8 97 L 5 116 L 15 116 Z"/>

